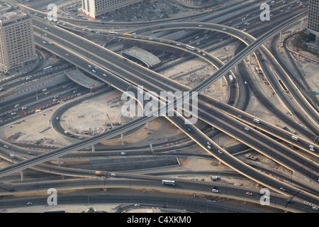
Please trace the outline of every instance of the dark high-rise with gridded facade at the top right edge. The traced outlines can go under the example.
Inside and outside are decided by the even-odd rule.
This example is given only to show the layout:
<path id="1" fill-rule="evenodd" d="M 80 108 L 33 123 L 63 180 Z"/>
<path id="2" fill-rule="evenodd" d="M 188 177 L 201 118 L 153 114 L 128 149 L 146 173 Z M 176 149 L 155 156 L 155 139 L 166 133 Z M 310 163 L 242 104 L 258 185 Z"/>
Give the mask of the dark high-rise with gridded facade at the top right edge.
<path id="1" fill-rule="evenodd" d="M 308 32 L 315 35 L 315 43 L 319 43 L 319 0 L 310 0 L 308 9 Z"/>

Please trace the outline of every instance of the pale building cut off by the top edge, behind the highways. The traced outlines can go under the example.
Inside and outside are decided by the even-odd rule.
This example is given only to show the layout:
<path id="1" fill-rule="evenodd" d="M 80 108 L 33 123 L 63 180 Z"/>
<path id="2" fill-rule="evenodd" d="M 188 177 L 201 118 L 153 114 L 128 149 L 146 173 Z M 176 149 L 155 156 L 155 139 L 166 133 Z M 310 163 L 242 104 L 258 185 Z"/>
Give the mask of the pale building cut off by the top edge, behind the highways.
<path id="1" fill-rule="evenodd" d="M 145 1 L 148 0 L 82 0 L 82 12 L 97 18 Z"/>

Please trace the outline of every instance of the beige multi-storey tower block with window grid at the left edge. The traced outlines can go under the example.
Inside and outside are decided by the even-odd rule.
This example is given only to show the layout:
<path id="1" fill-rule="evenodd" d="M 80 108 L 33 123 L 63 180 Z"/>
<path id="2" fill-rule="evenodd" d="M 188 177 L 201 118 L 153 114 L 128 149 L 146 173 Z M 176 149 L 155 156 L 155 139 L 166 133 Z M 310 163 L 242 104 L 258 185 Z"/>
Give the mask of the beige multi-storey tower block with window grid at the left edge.
<path id="1" fill-rule="evenodd" d="M 0 4 L 0 71 L 23 70 L 37 60 L 32 19 L 18 10 Z M 7 9 L 7 10 L 4 10 Z"/>

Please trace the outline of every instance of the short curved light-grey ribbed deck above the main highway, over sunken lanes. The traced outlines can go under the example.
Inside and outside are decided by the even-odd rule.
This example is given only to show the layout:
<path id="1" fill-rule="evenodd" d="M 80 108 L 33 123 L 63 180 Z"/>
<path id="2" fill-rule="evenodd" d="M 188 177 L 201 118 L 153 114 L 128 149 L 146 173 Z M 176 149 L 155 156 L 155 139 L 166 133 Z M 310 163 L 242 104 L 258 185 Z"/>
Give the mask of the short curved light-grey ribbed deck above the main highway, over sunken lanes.
<path id="1" fill-rule="evenodd" d="M 158 57 L 155 55 L 152 55 L 152 53 L 143 50 L 141 48 L 128 48 L 126 50 L 123 50 L 122 55 L 124 57 L 130 56 L 130 57 L 135 57 L 136 59 L 140 60 L 143 62 L 147 67 L 152 68 L 161 62 Z"/>

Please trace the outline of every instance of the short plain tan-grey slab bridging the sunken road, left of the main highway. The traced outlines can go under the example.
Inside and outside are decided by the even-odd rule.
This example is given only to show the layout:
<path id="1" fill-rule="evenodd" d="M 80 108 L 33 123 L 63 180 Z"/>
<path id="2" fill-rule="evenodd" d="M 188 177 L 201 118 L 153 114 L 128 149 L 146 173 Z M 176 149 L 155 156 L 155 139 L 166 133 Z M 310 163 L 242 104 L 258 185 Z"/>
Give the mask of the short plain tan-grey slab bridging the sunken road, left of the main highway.
<path id="1" fill-rule="evenodd" d="M 82 87 L 86 87 L 88 89 L 99 89 L 99 87 L 102 87 L 105 84 L 99 80 L 92 79 L 91 77 L 86 76 L 86 74 L 78 69 L 67 71 L 65 72 L 65 74 L 73 82 L 76 82 Z"/>

